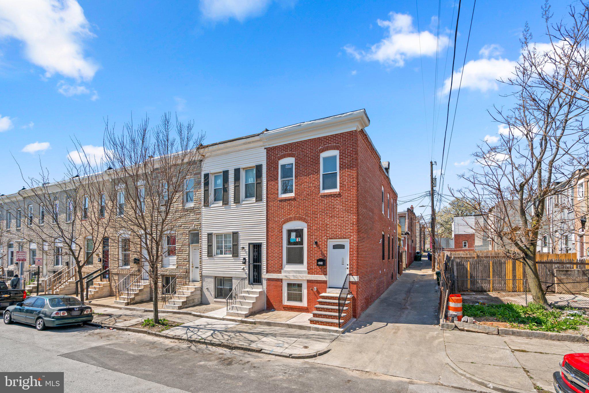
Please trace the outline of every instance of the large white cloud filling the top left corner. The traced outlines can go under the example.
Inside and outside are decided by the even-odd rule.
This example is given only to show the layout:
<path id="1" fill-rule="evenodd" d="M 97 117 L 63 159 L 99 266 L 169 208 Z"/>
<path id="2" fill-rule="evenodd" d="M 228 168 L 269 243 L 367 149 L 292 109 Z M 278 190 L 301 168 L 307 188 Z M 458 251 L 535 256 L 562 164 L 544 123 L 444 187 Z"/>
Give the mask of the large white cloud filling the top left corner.
<path id="1" fill-rule="evenodd" d="M 82 41 L 93 34 L 76 0 L 0 1 L 0 37 L 22 41 L 27 60 L 47 77 L 90 81 L 98 70 L 84 55 Z"/>

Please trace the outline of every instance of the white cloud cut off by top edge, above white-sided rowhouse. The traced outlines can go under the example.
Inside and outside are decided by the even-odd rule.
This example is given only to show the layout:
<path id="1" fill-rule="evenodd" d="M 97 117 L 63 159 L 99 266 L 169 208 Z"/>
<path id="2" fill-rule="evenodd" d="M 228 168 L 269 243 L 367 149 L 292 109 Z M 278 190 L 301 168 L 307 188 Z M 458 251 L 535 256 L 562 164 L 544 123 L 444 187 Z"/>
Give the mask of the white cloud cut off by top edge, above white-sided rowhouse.
<path id="1" fill-rule="evenodd" d="M 259 16 L 274 0 L 200 0 L 203 16 L 213 21 L 234 18 L 240 22 L 250 16 Z M 284 0 L 280 2 L 285 2 Z M 292 3 L 292 2 L 291 2 Z"/>

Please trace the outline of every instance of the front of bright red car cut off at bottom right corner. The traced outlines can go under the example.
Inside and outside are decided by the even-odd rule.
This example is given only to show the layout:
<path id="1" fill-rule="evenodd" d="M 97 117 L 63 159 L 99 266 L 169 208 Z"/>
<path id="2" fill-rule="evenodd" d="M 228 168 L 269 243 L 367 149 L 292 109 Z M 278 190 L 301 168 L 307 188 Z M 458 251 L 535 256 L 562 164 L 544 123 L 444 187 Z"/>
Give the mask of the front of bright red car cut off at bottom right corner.
<path id="1" fill-rule="evenodd" d="M 589 390 L 589 354 L 565 355 L 552 379 L 556 393 L 585 393 Z"/>

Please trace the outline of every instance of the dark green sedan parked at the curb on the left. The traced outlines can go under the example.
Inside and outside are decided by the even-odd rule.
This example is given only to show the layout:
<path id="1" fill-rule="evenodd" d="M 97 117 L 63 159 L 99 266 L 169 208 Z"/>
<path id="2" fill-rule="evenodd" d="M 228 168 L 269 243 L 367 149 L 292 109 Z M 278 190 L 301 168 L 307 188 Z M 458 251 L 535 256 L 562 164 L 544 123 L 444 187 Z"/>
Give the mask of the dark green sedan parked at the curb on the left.
<path id="1" fill-rule="evenodd" d="M 4 311 L 4 323 L 28 323 L 37 330 L 45 327 L 76 325 L 91 322 L 92 308 L 67 295 L 32 296 L 22 303 L 8 306 Z"/>

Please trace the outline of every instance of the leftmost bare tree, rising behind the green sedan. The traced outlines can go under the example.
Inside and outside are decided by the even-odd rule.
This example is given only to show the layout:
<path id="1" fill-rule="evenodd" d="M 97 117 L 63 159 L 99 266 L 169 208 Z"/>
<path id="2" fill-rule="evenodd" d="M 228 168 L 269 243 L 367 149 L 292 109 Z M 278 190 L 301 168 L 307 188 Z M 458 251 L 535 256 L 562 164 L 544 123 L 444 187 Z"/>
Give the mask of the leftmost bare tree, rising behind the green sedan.
<path id="1" fill-rule="evenodd" d="M 25 177 L 21 170 L 27 187 L 18 193 L 22 208 L 12 205 L 12 209 L 19 208 L 12 214 L 25 212 L 26 240 L 51 245 L 59 260 L 69 257 L 69 262 L 74 262 L 80 300 L 84 302 L 82 269 L 93 265 L 100 255 L 98 244 L 111 223 L 108 210 L 113 206 L 113 193 L 101 161 L 85 151 L 80 141 L 73 141 L 75 150 L 68 154 L 63 179 L 53 180 L 40 161 L 38 177 Z"/>

